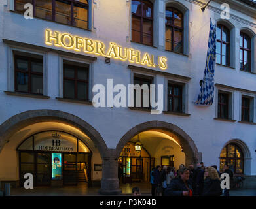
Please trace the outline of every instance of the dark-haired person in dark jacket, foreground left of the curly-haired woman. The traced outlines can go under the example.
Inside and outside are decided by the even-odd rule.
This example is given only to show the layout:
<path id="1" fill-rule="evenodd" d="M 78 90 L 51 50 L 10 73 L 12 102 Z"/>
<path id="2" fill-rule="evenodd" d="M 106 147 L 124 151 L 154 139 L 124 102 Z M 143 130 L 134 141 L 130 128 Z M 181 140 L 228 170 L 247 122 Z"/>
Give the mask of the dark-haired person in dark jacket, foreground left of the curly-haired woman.
<path id="1" fill-rule="evenodd" d="M 166 188 L 165 196 L 192 196 L 192 185 L 189 182 L 189 169 L 179 169 L 179 177 L 174 178 Z"/>

